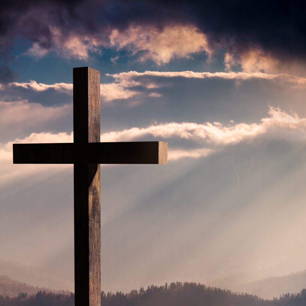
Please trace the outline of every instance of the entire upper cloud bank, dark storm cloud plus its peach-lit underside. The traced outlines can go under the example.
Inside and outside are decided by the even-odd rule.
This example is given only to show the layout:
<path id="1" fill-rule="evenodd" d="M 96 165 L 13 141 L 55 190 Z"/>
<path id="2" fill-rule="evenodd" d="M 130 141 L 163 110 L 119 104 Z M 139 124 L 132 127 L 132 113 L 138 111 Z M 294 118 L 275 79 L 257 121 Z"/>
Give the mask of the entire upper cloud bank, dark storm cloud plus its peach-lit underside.
<path id="1" fill-rule="evenodd" d="M 175 5 L 161 0 L 129 5 L 120 0 L 16 0 L 2 5 L 0 52 L 10 53 L 18 37 L 32 42 L 27 52 L 36 57 L 55 50 L 64 57 L 87 59 L 90 52 L 99 54 L 101 46 L 112 46 L 161 65 L 223 47 L 231 54 L 262 50 L 276 61 L 305 63 L 305 10 L 300 1 L 277 6 L 264 0 Z"/>

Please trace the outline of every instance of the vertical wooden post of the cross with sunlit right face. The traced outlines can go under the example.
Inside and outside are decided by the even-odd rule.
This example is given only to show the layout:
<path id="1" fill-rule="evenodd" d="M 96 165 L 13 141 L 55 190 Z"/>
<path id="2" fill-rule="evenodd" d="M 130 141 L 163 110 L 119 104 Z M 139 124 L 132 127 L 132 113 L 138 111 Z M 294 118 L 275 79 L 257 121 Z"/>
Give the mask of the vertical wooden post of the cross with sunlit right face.
<path id="1" fill-rule="evenodd" d="M 100 164 L 88 143 L 100 142 L 100 72 L 73 68 L 75 305 L 101 305 Z"/>

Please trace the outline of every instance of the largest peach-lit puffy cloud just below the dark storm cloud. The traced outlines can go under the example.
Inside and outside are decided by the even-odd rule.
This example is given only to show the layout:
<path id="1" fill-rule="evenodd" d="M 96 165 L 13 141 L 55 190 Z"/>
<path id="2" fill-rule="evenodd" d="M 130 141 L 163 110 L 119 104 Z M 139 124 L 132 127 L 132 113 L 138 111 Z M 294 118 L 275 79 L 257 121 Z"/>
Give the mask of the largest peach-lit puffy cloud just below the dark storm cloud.
<path id="1" fill-rule="evenodd" d="M 132 25 L 122 32 L 114 29 L 110 34 L 110 45 L 132 54 L 142 51 L 139 61 L 150 59 L 158 65 L 174 58 L 190 58 L 193 53 L 212 53 L 206 35 L 194 25 L 173 24 L 162 29 Z"/>

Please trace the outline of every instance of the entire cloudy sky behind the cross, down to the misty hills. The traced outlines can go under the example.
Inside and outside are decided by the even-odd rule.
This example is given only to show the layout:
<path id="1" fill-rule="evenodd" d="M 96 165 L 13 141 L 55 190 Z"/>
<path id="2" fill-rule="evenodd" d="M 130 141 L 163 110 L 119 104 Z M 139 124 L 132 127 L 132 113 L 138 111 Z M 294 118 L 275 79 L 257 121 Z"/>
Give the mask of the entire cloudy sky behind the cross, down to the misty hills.
<path id="1" fill-rule="evenodd" d="M 104 291 L 305 270 L 305 13 L 3 1 L 0 274 L 74 290 L 73 166 L 13 165 L 12 144 L 73 141 L 83 66 L 101 71 L 102 142 L 168 142 L 167 165 L 101 165 Z"/>

